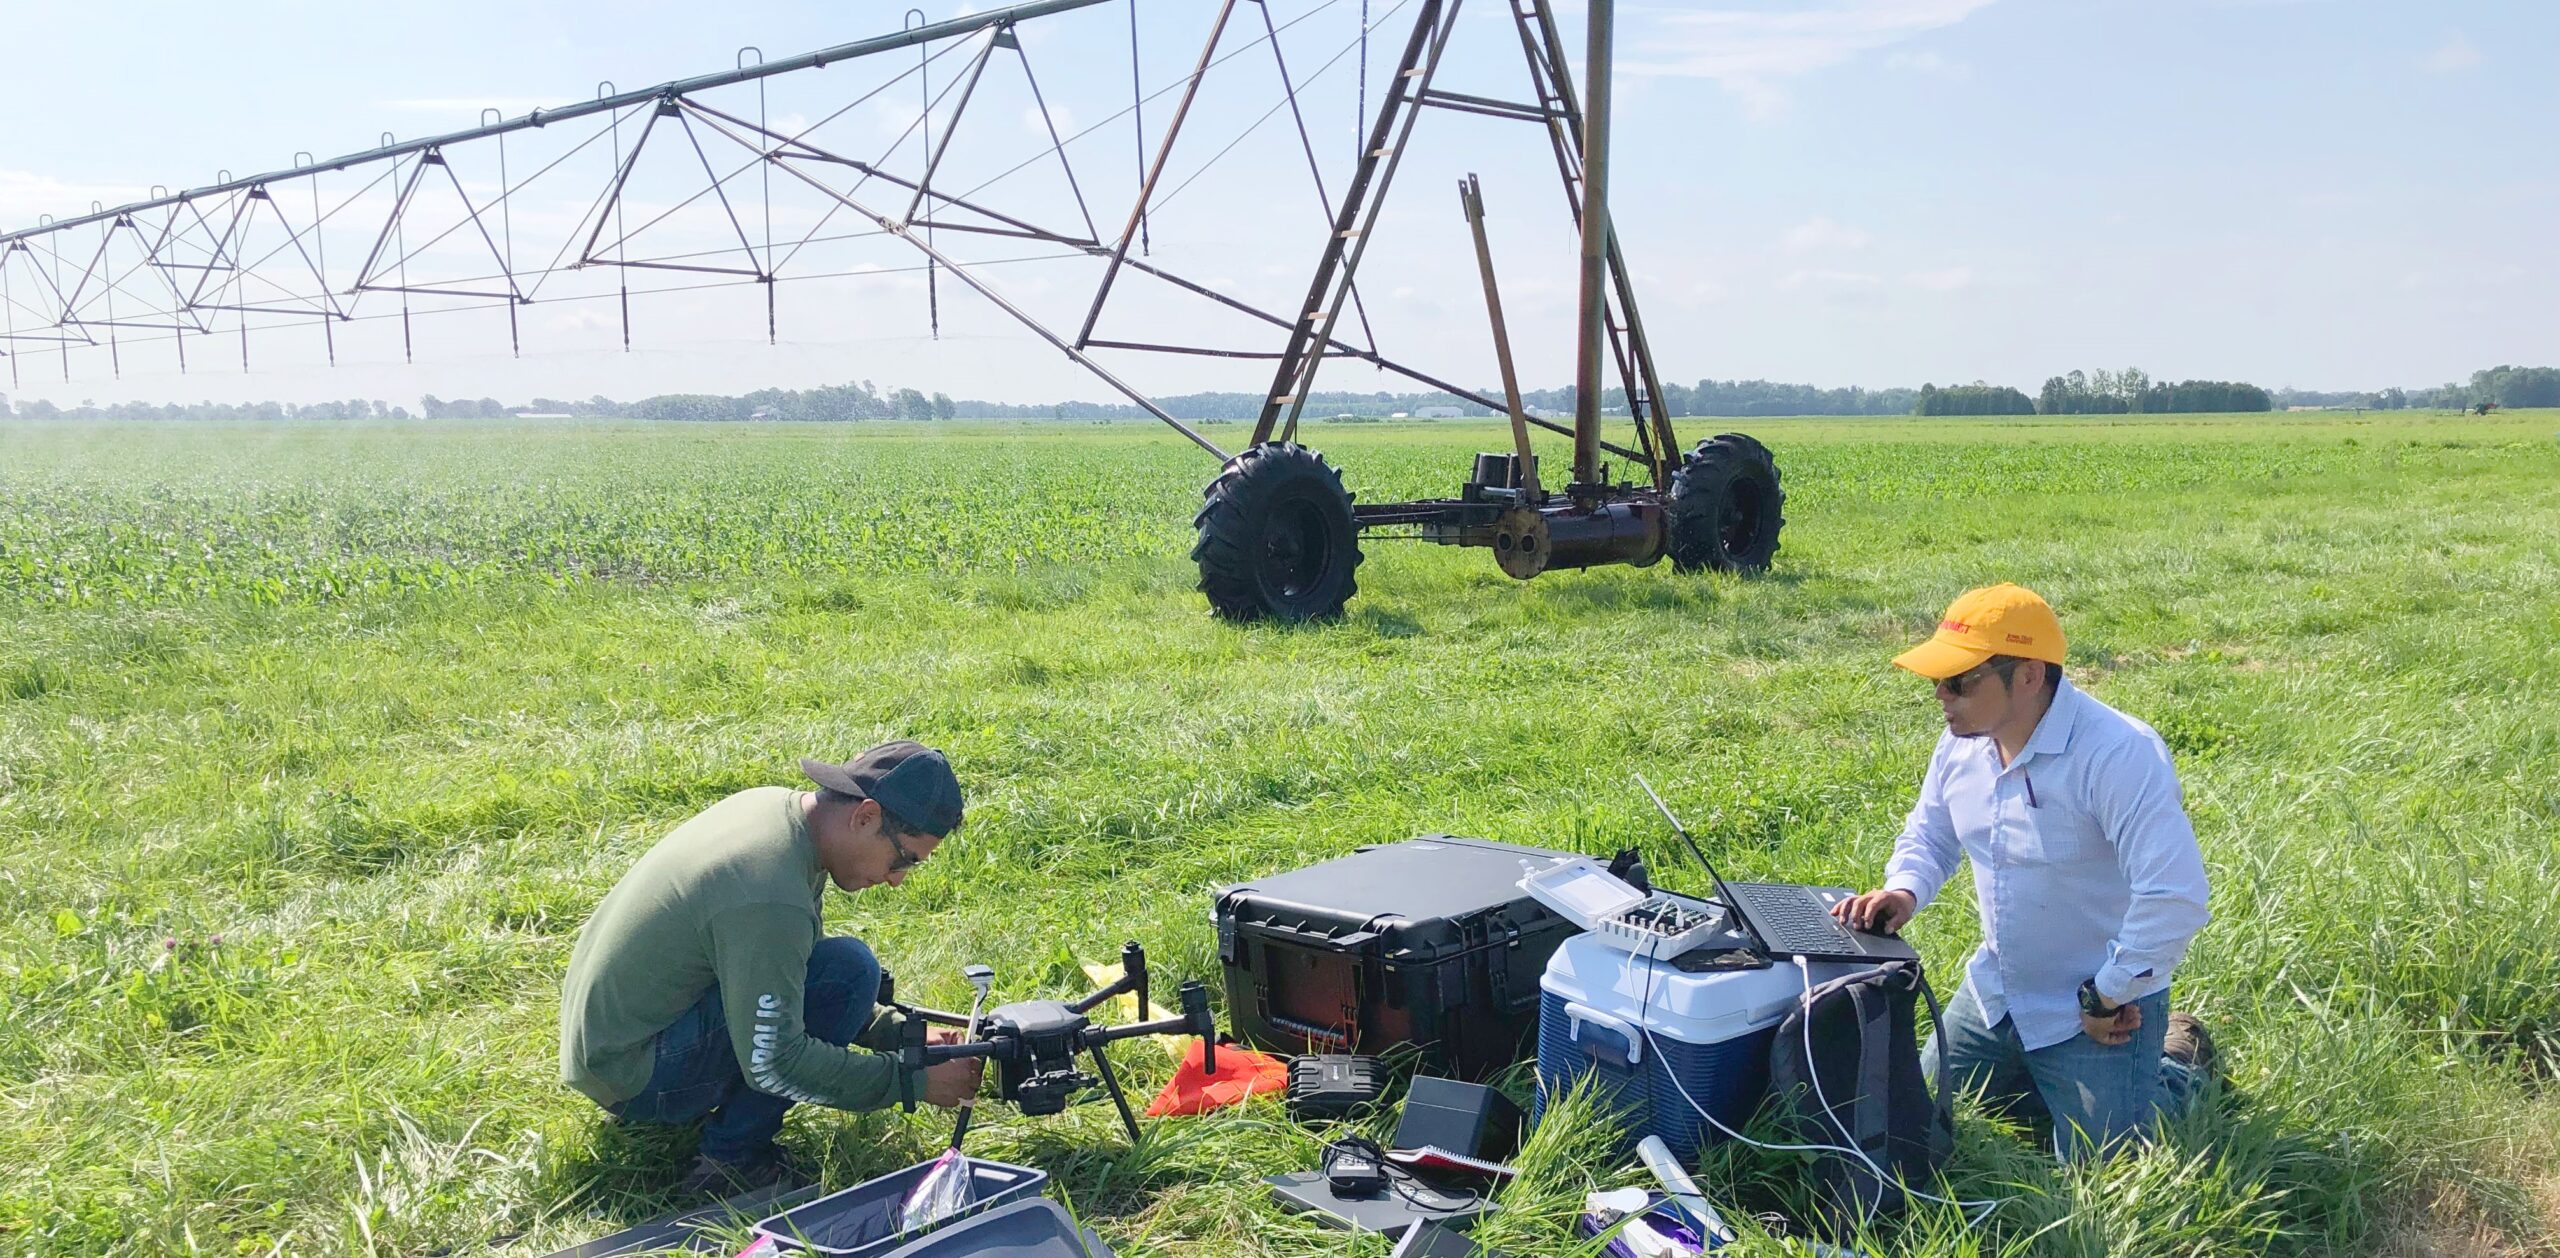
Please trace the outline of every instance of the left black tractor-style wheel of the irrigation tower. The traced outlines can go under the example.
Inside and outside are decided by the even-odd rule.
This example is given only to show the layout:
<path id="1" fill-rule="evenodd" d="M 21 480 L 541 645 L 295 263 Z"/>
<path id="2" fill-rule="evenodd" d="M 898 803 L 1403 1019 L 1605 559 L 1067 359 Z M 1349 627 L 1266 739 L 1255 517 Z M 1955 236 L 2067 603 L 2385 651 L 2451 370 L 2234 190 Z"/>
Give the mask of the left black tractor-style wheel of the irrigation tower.
<path id="1" fill-rule="evenodd" d="M 1193 528 L 1201 592 L 1226 620 L 1329 620 L 1357 582 L 1359 533 L 1352 494 L 1321 453 L 1295 443 L 1254 446 L 1226 461 L 1203 492 Z"/>

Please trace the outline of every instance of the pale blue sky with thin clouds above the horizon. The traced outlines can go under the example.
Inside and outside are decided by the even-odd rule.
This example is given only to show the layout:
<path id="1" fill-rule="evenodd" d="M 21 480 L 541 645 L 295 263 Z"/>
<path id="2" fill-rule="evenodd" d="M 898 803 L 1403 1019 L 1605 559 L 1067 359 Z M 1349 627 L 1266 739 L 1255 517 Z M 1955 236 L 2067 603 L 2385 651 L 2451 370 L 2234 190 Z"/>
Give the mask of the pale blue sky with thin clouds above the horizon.
<path id="1" fill-rule="evenodd" d="M 945 90 L 932 128 L 952 143 L 937 187 L 993 177 L 983 202 L 1078 233 L 1083 195 L 1108 241 L 1139 179 L 1139 136 L 1126 118 L 1129 3 L 1021 28 L 1042 100 L 1070 136 L 1075 187 L 1044 161 L 1047 128 L 1009 51 L 991 54 L 965 113 L 947 87 L 973 44 L 945 46 L 929 85 L 896 79 L 914 69 L 906 51 L 768 79 L 763 102 L 755 87 L 704 100 L 737 115 L 763 108 L 778 131 L 817 126 L 809 136 L 829 151 L 914 174 L 927 159 L 922 92 Z M 1152 146 L 1216 5 L 1134 3 L 1139 79 L 1157 92 L 1144 108 Z M 1377 26 L 1364 90 L 1362 8 Z M 1334 197 L 1359 149 L 1359 102 L 1380 100 L 1416 8 L 1270 0 Z M 924 5 L 927 18 L 970 10 Z M 1562 15 L 1580 56 L 1582 5 Z M 220 169 L 282 169 L 297 151 L 351 154 L 381 133 L 463 128 L 484 108 L 520 115 L 589 100 L 599 79 L 643 87 L 753 59 L 742 46 L 781 59 L 899 20 L 901 5 L 799 0 L 13 5 L 0 49 L 0 118 L 13 120 L 0 131 L 0 231 L 44 213 L 87 213 L 92 200 L 133 200 L 151 184 L 200 187 Z M 1149 218 L 1139 256 L 1290 310 L 1306 295 L 1326 213 L 1290 115 L 1275 113 L 1285 97 L 1260 38 L 1260 8 L 1247 0 L 1219 46 L 1231 56 L 1206 79 L 1167 167 L 1167 192 L 1178 192 Z M 2560 361 L 2552 64 L 2560 5 L 2522 0 L 1628 0 L 1618 5 L 1613 213 L 1669 379 L 1987 379 L 2035 392 L 2074 366 L 2143 366 L 2156 379 L 2307 389 L 2437 384 L 2478 366 Z M 1467 5 L 1439 85 L 1521 100 L 1523 82 L 1505 5 Z M 881 95 L 822 123 L 876 87 Z M 576 249 L 612 177 L 604 146 L 630 141 L 643 123 L 645 110 L 614 136 L 596 118 L 509 138 L 509 182 L 522 184 L 502 228 L 509 249 Z M 315 325 L 256 328 L 246 369 L 233 315 L 215 315 L 218 336 L 187 338 L 184 372 L 177 346 L 148 331 L 67 361 L 49 346 L 0 341 L 18 346 L 0 392 L 64 405 L 407 402 L 425 392 L 522 402 L 873 379 L 996 402 L 1114 397 L 950 274 L 934 274 L 927 297 L 911 246 L 827 238 L 845 233 L 850 215 L 827 218 L 832 202 L 794 179 L 771 192 L 758 190 L 760 172 L 724 184 L 740 197 L 737 228 L 714 202 L 686 202 L 707 184 L 701 164 L 730 172 L 740 161 L 727 156 L 745 154 L 701 138 L 709 149 L 699 161 L 653 138 L 650 167 L 635 164 L 622 208 L 630 218 L 668 215 L 648 228 L 658 254 L 645 256 L 712 259 L 737 231 L 755 246 L 768 213 L 781 251 L 819 236 L 778 272 L 776 343 L 763 287 L 742 284 L 632 297 L 625 351 L 617 269 L 589 266 L 545 279 L 535 302 L 515 310 L 512 333 L 507 313 L 486 302 L 415 295 L 402 320 L 397 292 L 366 292 L 353 300 L 364 318 L 333 328 L 333 343 Z M 561 167 L 525 177 L 563 151 Z M 486 208 L 502 187 L 486 141 L 456 146 L 451 159 L 463 195 Z M 1454 197 L 1469 172 L 1485 184 L 1523 384 L 1564 384 L 1574 241 L 1554 159 L 1528 123 L 1444 110 L 1421 118 L 1359 272 L 1377 346 L 1467 384 L 1495 379 Z M 330 287 L 346 290 L 389 215 L 392 184 L 330 179 L 320 190 L 338 210 L 317 243 Z M 315 218 L 300 187 L 276 205 Z M 904 197 L 878 192 L 870 184 L 858 200 L 904 210 Z M 458 205 L 448 187 L 420 184 L 394 254 L 412 249 L 410 231 L 433 236 L 435 213 L 461 231 Z M 832 228 L 819 228 L 822 218 Z M 284 241 L 279 228 L 274 243 Z M 937 241 L 983 264 L 975 274 L 1034 318 L 1068 336 L 1083 323 L 1101 266 L 1093 259 L 1021 261 L 1042 249 L 950 231 Z M 90 233 L 61 251 L 95 246 Z M 640 246 L 632 233 L 622 256 L 643 256 L 632 254 Z M 415 284 L 476 274 L 489 256 L 466 231 L 415 249 Z M 10 277 L 20 325 L 41 305 L 31 264 Z M 632 274 L 637 287 L 707 279 Z M 940 305 L 940 336 L 927 328 L 927 300 Z M 481 307 L 451 310 L 463 305 Z M 1280 343 L 1275 328 L 1144 277 L 1114 290 L 1098 336 L 1249 351 Z M 335 366 L 325 364 L 330 351 Z M 1144 392 L 1270 382 L 1270 364 L 1252 359 L 1098 359 Z M 1334 364 L 1318 387 L 1413 384 Z"/>

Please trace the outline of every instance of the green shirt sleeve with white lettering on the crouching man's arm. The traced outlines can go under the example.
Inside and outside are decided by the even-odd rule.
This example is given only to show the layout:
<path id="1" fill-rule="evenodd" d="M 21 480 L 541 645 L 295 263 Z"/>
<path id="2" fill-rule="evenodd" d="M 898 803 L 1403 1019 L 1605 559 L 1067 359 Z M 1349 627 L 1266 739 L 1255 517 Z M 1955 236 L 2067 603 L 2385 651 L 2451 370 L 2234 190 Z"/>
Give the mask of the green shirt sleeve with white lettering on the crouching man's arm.
<path id="1" fill-rule="evenodd" d="M 817 920 L 806 904 L 740 904 L 712 920 L 719 1004 L 748 1086 L 832 1109 L 896 1104 L 896 1058 L 809 1035 L 801 1002 L 814 945 Z M 916 1094 L 924 1094 L 922 1079 Z"/>

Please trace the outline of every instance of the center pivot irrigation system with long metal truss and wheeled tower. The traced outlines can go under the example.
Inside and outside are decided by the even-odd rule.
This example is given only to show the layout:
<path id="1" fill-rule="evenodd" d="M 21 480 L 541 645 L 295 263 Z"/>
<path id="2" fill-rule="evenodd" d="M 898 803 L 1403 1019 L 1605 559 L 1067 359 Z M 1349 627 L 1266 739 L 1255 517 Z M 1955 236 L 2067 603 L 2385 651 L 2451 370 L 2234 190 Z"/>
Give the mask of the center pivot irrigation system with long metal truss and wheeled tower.
<path id="1" fill-rule="evenodd" d="M 1106 3 L 1129 8 L 1129 108 L 1083 131 L 1062 128 L 1057 110 L 1032 74 L 1027 23 Z M 156 356 L 164 343 L 184 372 L 189 343 L 197 346 L 202 364 L 215 351 L 228 359 L 228 346 L 236 341 L 246 372 L 251 333 L 287 331 L 284 336 L 302 338 L 302 354 L 323 351 L 335 364 L 340 336 L 353 336 L 351 325 L 397 318 L 402 356 L 415 361 L 412 318 L 453 310 L 504 310 L 507 346 L 520 354 L 527 336 L 520 310 L 535 302 L 586 302 L 589 313 L 612 302 L 622 346 L 630 348 L 635 295 L 745 284 L 760 284 L 765 336 L 778 338 L 778 287 L 796 279 L 886 272 L 878 264 L 824 272 L 806 261 L 824 256 L 829 243 L 870 238 L 888 241 L 919 259 L 914 269 L 924 279 L 934 336 L 942 331 L 942 277 L 947 274 L 1224 464 L 1206 489 L 1206 505 L 1196 518 L 1198 543 L 1190 551 L 1201 566 L 1201 592 L 1224 617 L 1318 620 L 1339 615 L 1354 592 L 1364 535 L 1482 546 L 1495 553 L 1505 574 L 1521 579 L 1549 569 L 1646 566 L 1664 556 L 1679 571 L 1766 569 L 1782 525 L 1777 464 L 1766 446 L 1738 433 L 1700 441 L 1690 451 L 1679 446 L 1672 418 L 1661 407 L 1664 392 L 1644 320 L 1636 313 L 1633 277 L 1610 228 L 1613 0 L 1590 0 L 1587 5 L 1585 87 L 1580 92 L 1549 0 L 1492 0 L 1508 13 L 1526 64 L 1521 82 L 1526 92 L 1518 97 L 1434 85 L 1457 31 L 1462 0 L 1395 0 L 1393 5 L 1362 0 L 1354 44 L 1306 77 L 1290 72 L 1283 31 L 1349 0 L 1311 0 L 1313 8 L 1285 20 L 1272 13 L 1277 3 L 1219 0 L 1198 61 L 1183 79 L 1155 92 L 1147 92 L 1139 77 L 1139 0 L 1037 0 L 942 23 L 927 23 L 922 13 L 909 10 L 909 26 L 888 36 L 778 61 L 742 49 L 737 67 L 719 74 L 637 92 L 599 85 L 596 97 L 579 105 L 543 108 L 522 118 L 486 110 L 481 126 L 448 136 L 415 141 L 384 136 L 379 149 L 361 154 L 325 161 L 297 154 L 292 169 L 274 174 L 233 179 L 225 172 L 207 187 L 154 190 L 148 200 L 131 205 L 92 205 L 87 215 L 44 218 L 33 228 L 0 233 L 0 359 L 8 359 L 10 379 L 18 382 L 20 369 L 59 356 L 61 374 L 69 379 L 74 354 L 95 359 L 97 351 L 105 351 L 110 366 L 123 374 L 125 359 Z M 1375 20 L 1372 3 L 1385 8 Z M 1372 110 L 1367 102 L 1370 36 L 1408 10 L 1411 28 Z M 1206 13 L 1206 5 L 1180 13 L 1185 18 Z M 1313 79 L 1331 72 L 1354 49 L 1362 67 L 1359 151 L 1349 167 L 1349 182 L 1334 197 L 1308 133 L 1306 105 L 1339 102 L 1339 79 L 1329 87 L 1334 92 L 1329 97 L 1316 95 Z M 1180 274 L 1167 264 L 1149 261 L 1149 220 L 1162 215 L 1162 208 L 1190 187 L 1190 179 L 1206 174 L 1208 164 L 1244 141 L 1236 136 L 1185 179 L 1167 174 L 1203 82 L 1224 67 L 1262 64 L 1265 51 L 1267 64 L 1277 69 L 1280 100 L 1247 128 L 1247 136 L 1285 110 L 1285 118 L 1295 123 L 1295 138 L 1326 215 L 1306 297 L 1277 313 L 1229 292 L 1234 287 L 1229 279 Z M 904 56 L 914 56 L 914 61 L 904 61 Z M 783 118 L 768 113 L 765 90 L 768 85 L 778 87 L 776 79 L 809 77 L 847 64 L 904 64 L 904 69 L 814 123 L 804 113 Z M 978 126 L 970 102 L 996 95 L 993 90 L 983 92 L 983 87 L 993 82 L 991 67 L 1004 64 L 1019 64 L 1019 85 L 1029 90 L 1024 120 L 1039 120 L 1044 143 L 1032 159 L 968 184 L 957 177 L 963 161 L 955 159 L 955 138 L 965 128 L 973 136 L 1001 131 Z M 1229 74 L 1236 72 L 1242 69 L 1229 69 Z M 852 143 L 835 138 L 847 131 L 840 120 L 909 82 L 916 92 L 911 97 L 916 108 L 888 151 L 878 156 L 845 151 Z M 753 92 L 753 97 L 740 97 L 740 92 Z M 1147 108 L 1162 108 L 1167 97 L 1170 120 L 1149 146 Z M 1492 243 L 1485 233 L 1485 202 L 1472 174 L 1459 182 L 1459 208 L 1485 287 L 1485 313 L 1503 382 L 1500 397 L 1426 374 L 1377 348 L 1375 323 L 1385 323 L 1385 310 L 1362 295 L 1354 277 L 1426 110 L 1533 126 L 1544 131 L 1554 151 L 1564 202 L 1580 231 L 1572 425 L 1533 415 L 1521 405 L 1510 333 L 1495 284 Z M 1078 177 L 1073 154 L 1091 154 L 1093 138 L 1103 128 L 1116 128 L 1121 118 L 1134 120 L 1137 161 L 1132 169 L 1137 184 L 1119 231 L 1103 233 L 1096 228 L 1088 202 L 1088 190 L 1098 184 L 1091 177 Z M 584 138 L 550 156 L 548 164 L 522 156 L 535 141 L 548 138 L 553 149 L 561 149 L 579 133 Z M 509 141 L 517 146 L 515 167 L 509 167 Z M 1034 164 L 1060 174 L 1062 184 L 1052 187 L 1065 195 L 1052 192 L 1042 208 L 1029 210 L 998 208 L 988 190 Z M 527 167 L 532 174 L 522 174 Z M 566 213 L 543 215 L 532 213 L 530 205 L 520 210 L 535 197 L 527 187 L 543 184 L 543 192 L 553 192 L 581 169 L 589 172 L 589 179 L 602 177 L 602 190 L 573 225 L 561 228 Z M 666 187 L 668 172 L 681 172 L 691 195 L 681 200 L 645 195 L 645 190 Z M 799 192 L 812 213 L 824 213 L 814 215 L 806 231 L 796 231 L 801 223 L 786 213 L 786 231 L 778 236 L 776 184 Z M 1070 208 L 1073 220 L 1065 218 Z M 689 241 L 694 249 L 673 251 L 663 243 L 666 231 L 653 241 L 653 228 L 681 213 L 712 223 L 717 241 L 704 243 L 696 236 Z M 1073 225 L 1042 225 L 1042 213 Z M 338 233 L 335 261 L 330 256 L 333 233 Z M 351 251 L 348 236 L 361 249 Z M 556 249 L 545 249 L 550 238 L 558 241 Z M 955 238 L 993 238 L 1047 251 L 963 261 L 952 256 Z M 540 243 L 527 249 L 527 241 Z M 1132 246 L 1137 246 L 1137 256 L 1132 256 Z M 353 266 L 351 254 L 361 256 Z M 986 274 L 1001 264 L 1044 259 L 1101 266 L 1083 323 L 1073 333 L 1032 315 Z M 579 292 L 581 274 L 586 292 Z M 594 277 L 612 277 L 609 287 L 596 287 Z M 1247 325 L 1277 336 L 1280 348 L 1098 336 L 1114 284 L 1124 277 L 1165 284 L 1183 300 L 1208 302 L 1208 310 L 1221 318 L 1242 318 Z M 607 320 L 596 315 L 596 323 Z M 1103 366 L 1096 359 L 1101 351 L 1272 361 L 1252 441 L 1229 453 Z M 1367 361 L 1508 415 L 1510 451 L 1477 453 L 1457 497 L 1354 505 L 1341 474 L 1321 453 L 1298 443 L 1298 423 L 1326 359 Z M 1603 433 L 1603 413 L 1610 402 L 1605 379 L 1610 374 L 1615 374 L 1615 392 L 1631 428 L 1628 443 Z M 1554 477 L 1531 448 L 1531 430 L 1572 438 L 1572 464 L 1562 487 L 1551 484 Z M 1626 459 L 1623 479 L 1613 479 L 1613 466 L 1603 456 Z"/>

